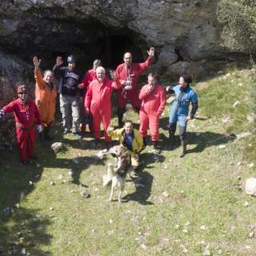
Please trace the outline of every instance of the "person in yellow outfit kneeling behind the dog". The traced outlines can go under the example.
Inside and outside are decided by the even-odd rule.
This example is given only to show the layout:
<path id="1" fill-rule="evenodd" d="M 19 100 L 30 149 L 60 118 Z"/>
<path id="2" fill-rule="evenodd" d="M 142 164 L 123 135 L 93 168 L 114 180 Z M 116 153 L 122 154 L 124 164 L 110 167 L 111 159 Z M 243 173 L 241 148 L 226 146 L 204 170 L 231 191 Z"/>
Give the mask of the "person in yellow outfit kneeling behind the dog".
<path id="1" fill-rule="evenodd" d="M 109 126 L 107 133 L 111 138 L 118 138 L 120 144 L 129 150 L 132 170 L 138 171 L 138 154 L 142 151 L 143 138 L 139 131 L 134 129 L 133 123 L 126 120 L 123 128 L 117 130 L 114 130 L 114 126 Z"/>

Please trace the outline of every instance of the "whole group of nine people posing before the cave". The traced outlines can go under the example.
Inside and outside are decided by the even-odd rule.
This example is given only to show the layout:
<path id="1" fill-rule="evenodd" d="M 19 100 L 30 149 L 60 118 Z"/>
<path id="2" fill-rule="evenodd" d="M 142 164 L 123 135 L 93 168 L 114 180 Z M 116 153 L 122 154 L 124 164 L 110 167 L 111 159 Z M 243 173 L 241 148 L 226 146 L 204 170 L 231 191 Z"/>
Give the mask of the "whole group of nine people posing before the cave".
<path id="1" fill-rule="evenodd" d="M 50 127 L 54 122 L 56 98 L 59 94 L 60 110 L 62 113 L 63 134 L 70 130 L 75 138 L 81 138 L 81 132 L 86 130 L 86 124 L 81 126 L 82 116 L 89 123 L 90 131 L 94 134 L 95 144 L 101 138 L 100 124 L 104 128 L 106 142 L 118 138 L 119 142 L 130 151 L 132 166 L 138 168 L 138 154 L 146 146 L 147 130 L 150 130 L 154 150 L 159 153 L 159 118 L 165 109 L 166 93 L 174 94 L 175 99 L 170 110 L 170 144 L 174 143 L 176 124 L 179 125 L 179 135 L 182 141 L 181 157 L 186 154 L 186 124 L 194 118 L 198 109 L 197 94 L 190 88 L 191 78 L 183 75 L 177 86 L 167 86 L 166 90 L 158 84 L 158 75 L 154 72 L 148 74 L 148 81 L 142 89 L 138 89 L 138 78 L 154 61 L 154 47 L 150 47 L 145 62 L 132 62 L 132 54 L 127 52 L 123 56 L 123 63 L 115 71 L 110 71 L 111 79 L 106 77 L 106 70 L 102 62 L 96 59 L 93 69 L 83 76 L 77 69 L 77 58 L 70 55 L 67 66 L 63 66 L 61 57 L 56 59 L 53 71 L 40 70 L 40 60 L 33 58 L 35 78 L 35 101 L 28 97 L 24 84 L 18 84 L 18 99 L 10 102 L 0 110 L 0 118 L 6 113 L 14 112 L 18 148 L 21 160 L 28 164 L 35 157 L 34 143 L 36 127 L 40 134 L 42 146 L 51 139 Z M 54 84 L 54 74 L 58 75 L 59 85 Z M 118 126 L 110 126 L 111 95 L 118 90 Z M 139 130 L 135 130 L 130 120 L 123 122 L 126 104 L 130 102 L 139 114 Z M 192 110 L 189 114 L 190 102 Z M 81 107 L 83 105 L 83 107 Z M 72 126 L 70 118 L 72 116 Z M 36 121 L 36 125 L 35 125 Z"/>

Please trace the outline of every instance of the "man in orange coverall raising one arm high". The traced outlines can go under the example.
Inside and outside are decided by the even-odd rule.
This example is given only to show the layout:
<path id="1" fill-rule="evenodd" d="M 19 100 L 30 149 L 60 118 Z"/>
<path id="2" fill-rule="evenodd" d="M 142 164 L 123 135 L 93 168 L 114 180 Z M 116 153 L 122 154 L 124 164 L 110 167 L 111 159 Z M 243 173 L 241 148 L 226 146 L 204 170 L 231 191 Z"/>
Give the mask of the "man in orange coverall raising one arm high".
<path id="1" fill-rule="evenodd" d="M 42 72 L 39 68 L 41 60 L 34 56 L 34 79 L 35 79 L 35 103 L 38 106 L 39 113 L 42 118 L 43 130 L 42 145 L 44 139 L 51 139 L 49 132 L 50 126 L 54 122 L 55 105 L 57 97 L 57 86 L 54 84 L 54 73 L 51 70 L 46 70 L 42 77 Z"/>

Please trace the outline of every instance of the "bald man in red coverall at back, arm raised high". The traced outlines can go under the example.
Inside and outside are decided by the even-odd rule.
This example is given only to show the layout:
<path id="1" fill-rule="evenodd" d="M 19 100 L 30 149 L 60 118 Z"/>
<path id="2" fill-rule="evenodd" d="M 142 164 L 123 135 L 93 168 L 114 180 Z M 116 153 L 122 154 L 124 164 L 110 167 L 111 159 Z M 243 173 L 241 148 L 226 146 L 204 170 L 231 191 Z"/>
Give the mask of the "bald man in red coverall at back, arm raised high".
<path id="1" fill-rule="evenodd" d="M 137 112 L 140 109 L 141 101 L 138 98 L 139 90 L 137 86 L 138 78 L 144 70 L 154 61 L 154 47 L 150 47 L 147 52 L 149 58 L 146 62 L 133 63 L 132 54 L 123 55 L 124 63 L 119 65 L 115 70 L 115 76 L 120 80 L 122 88 L 118 90 L 118 126 L 121 128 L 122 117 L 126 112 L 126 104 L 130 100 L 131 105 Z"/>

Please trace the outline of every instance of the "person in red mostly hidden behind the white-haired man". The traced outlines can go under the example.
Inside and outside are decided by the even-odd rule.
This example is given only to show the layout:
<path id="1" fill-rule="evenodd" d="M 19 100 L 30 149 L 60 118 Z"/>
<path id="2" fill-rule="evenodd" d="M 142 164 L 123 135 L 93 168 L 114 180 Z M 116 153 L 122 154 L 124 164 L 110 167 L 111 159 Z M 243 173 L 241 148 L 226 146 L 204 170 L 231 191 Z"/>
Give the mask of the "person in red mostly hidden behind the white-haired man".
<path id="1" fill-rule="evenodd" d="M 96 69 L 98 68 L 98 66 L 102 66 L 102 61 L 100 59 L 95 59 L 94 63 L 93 63 L 93 68 L 86 72 L 85 77 L 82 79 L 82 82 L 78 85 L 79 89 L 84 90 L 83 101 L 86 98 L 86 92 L 87 92 L 87 88 L 88 88 L 90 82 L 92 82 L 94 79 L 97 79 Z M 92 124 L 89 125 L 89 129 L 90 129 L 90 131 L 93 131 Z M 86 132 L 86 124 L 84 124 L 84 123 L 82 124 L 81 131 L 82 131 L 82 133 Z"/>

